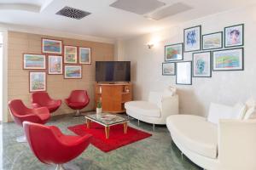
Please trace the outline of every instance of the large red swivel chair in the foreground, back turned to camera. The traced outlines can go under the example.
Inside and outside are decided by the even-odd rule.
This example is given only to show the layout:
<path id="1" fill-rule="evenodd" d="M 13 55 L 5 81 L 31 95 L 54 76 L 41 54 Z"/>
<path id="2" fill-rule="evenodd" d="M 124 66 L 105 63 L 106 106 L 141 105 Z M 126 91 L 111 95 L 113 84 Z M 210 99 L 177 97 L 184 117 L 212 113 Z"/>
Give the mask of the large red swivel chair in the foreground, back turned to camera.
<path id="1" fill-rule="evenodd" d="M 57 164 L 56 169 L 64 169 L 62 164 L 79 156 L 90 144 L 90 134 L 65 135 L 58 127 L 32 122 L 23 122 L 23 127 L 34 155 L 45 164 Z"/>

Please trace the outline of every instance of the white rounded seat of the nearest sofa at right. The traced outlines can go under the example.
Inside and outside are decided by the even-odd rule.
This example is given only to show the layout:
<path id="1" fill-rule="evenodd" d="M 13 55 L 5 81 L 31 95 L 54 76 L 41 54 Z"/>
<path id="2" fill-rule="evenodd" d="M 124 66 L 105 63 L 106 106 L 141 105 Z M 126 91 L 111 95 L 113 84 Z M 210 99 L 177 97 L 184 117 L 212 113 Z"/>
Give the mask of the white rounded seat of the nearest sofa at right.
<path id="1" fill-rule="evenodd" d="M 166 120 L 171 135 L 179 144 L 201 156 L 217 158 L 218 127 L 205 117 L 173 115 Z"/>

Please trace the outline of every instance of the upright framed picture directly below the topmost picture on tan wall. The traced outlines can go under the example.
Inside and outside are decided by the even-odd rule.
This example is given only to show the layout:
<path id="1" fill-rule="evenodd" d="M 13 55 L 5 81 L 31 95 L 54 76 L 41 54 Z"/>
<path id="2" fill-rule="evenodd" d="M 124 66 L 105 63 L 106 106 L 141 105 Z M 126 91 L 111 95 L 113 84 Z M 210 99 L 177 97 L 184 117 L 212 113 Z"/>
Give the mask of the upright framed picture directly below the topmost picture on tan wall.
<path id="1" fill-rule="evenodd" d="M 63 57 L 61 55 L 48 56 L 48 74 L 50 75 L 63 74 Z"/>

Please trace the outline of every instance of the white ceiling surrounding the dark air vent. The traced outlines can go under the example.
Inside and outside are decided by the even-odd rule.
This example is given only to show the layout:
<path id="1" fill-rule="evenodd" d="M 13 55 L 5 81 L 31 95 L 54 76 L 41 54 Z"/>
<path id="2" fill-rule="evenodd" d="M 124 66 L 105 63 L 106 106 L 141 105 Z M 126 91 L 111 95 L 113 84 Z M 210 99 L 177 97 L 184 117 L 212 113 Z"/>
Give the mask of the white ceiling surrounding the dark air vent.
<path id="1" fill-rule="evenodd" d="M 180 22 L 195 20 L 255 2 L 255 0 L 160 0 L 166 3 L 166 6 L 181 2 L 193 9 L 163 20 L 148 20 L 143 15 L 109 7 L 115 1 L 0 0 L 0 23 L 119 39 L 159 31 Z M 73 20 L 55 14 L 65 6 L 79 8 L 92 14 L 82 20 Z"/>

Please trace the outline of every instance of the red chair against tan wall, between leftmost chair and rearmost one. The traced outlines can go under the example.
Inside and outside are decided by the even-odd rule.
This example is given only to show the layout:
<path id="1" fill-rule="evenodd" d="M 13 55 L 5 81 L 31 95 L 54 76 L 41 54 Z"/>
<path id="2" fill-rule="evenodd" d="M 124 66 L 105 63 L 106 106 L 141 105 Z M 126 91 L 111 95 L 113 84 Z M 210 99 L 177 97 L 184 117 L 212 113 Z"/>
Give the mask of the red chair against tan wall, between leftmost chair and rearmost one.
<path id="1" fill-rule="evenodd" d="M 51 99 L 47 92 L 36 92 L 32 94 L 32 106 L 33 108 L 47 107 L 52 113 L 61 106 L 61 99 Z"/>

